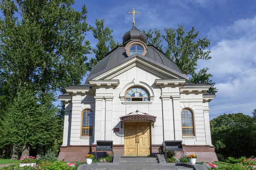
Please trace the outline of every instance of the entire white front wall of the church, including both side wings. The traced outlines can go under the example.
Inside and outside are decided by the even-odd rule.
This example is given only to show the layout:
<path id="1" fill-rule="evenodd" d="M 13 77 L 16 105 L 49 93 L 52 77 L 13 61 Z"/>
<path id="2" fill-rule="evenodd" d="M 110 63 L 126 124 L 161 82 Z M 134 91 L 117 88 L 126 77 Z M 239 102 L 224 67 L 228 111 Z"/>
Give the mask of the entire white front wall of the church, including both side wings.
<path id="1" fill-rule="evenodd" d="M 95 96 L 73 94 L 70 145 L 96 144 L 96 140 L 113 140 L 113 144 L 124 144 L 124 124 L 121 128 L 119 117 L 136 110 L 157 116 L 154 127 L 151 127 L 151 144 L 162 144 L 163 140 L 182 140 L 186 145 L 211 145 L 209 106 L 208 102 L 203 102 L 202 94 L 180 94 L 178 86 L 155 85 L 155 79 L 163 77 L 137 66 L 112 79 L 118 79 L 119 85 L 114 88 L 97 87 Z M 120 92 L 134 79 L 152 88 L 154 99 L 151 103 L 122 103 L 124 100 L 120 99 Z M 81 136 L 81 112 L 86 108 L 95 115 L 93 137 Z M 191 108 L 194 113 L 195 136 L 182 136 L 180 113 L 183 108 Z M 114 132 L 113 128 L 119 128 L 119 132 Z"/>

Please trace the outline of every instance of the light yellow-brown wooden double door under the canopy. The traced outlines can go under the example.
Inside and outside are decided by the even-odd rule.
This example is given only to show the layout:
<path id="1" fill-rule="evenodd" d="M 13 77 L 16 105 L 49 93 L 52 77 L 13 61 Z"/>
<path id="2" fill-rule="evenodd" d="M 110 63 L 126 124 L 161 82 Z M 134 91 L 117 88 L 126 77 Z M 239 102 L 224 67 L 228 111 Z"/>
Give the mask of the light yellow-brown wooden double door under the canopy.
<path id="1" fill-rule="evenodd" d="M 151 156 L 150 123 L 125 123 L 125 156 Z"/>

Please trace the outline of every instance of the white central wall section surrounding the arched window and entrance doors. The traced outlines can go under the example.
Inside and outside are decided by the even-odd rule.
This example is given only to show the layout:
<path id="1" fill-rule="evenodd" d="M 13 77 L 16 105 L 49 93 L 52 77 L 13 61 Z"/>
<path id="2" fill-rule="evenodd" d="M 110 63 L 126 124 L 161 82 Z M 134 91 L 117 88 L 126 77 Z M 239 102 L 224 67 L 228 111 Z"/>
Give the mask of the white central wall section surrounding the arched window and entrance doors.
<path id="1" fill-rule="evenodd" d="M 151 142 L 152 144 L 162 144 L 163 142 L 163 120 L 162 120 L 162 101 L 160 99 L 161 89 L 154 84 L 155 79 L 160 79 L 155 74 L 151 74 L 143 68 L 133 67 L 128 71 L 114 77 L 113 79 L 119 79 L 120 84 L 113 91 L 113 112 L 112 112 L 112 126 L 120 129 L 120 132 L 113 132 L 112 139 L 114 144 L 124 144 L 124 124 L 122 124 L 119 117 L 136 110 L 148 113 L 153 116 L 157 116 L 157 120 L 154 123 L 154 127 L 151 127 Z M 119 98 L 120 92 L 123 87 L 134 79 L 138 79 L 140 82 L 144 82 L 149 85 L 154 91 L 154 100 L 152 103 L 147 104 L 122 104 L 124 100 Z M 128 102 L 126 102 L 128 103 Z"/>

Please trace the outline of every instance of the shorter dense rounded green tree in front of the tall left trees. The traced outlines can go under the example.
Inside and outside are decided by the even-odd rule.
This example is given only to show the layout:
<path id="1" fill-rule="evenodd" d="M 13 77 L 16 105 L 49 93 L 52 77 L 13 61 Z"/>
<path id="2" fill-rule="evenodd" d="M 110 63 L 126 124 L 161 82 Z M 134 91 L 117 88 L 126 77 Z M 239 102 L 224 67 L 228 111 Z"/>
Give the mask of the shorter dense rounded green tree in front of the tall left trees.
<path id="1" fill-rule="evenodd" d="M 52 103 L 54 96 L 47 94 L 44 104 L 36 96 L 38 92 L 32 88 L 19 89 L 4 116 L 3 125 L 9 136 L 7 142 L 14 146 L 44 146 L 58 136 L 57 108 Z"/>

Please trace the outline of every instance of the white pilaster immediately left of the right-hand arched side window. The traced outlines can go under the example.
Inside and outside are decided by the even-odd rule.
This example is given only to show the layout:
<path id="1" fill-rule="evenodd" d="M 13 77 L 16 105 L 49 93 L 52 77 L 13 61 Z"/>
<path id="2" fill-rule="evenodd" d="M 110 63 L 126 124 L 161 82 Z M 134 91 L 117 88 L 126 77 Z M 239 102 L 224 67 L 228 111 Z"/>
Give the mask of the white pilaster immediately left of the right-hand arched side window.
<path id="1" fill-rule="evenodd" d="M 172 95 L 175 140 L 182 140 L 180 95 Z"/>

